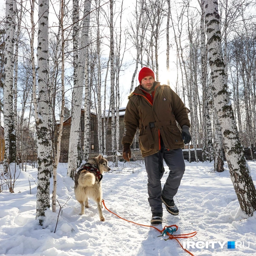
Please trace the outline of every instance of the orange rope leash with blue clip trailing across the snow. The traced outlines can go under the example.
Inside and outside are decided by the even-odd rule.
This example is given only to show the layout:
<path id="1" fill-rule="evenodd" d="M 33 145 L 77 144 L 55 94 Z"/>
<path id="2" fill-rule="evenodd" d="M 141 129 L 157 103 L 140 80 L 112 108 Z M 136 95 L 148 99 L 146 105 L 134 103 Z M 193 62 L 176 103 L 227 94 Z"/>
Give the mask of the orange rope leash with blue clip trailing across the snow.
<path id="1" fill-rule="evenodd" d="M 102 203 L 103 203 L 104 207 L 105 207 L 109 212 L 111 212 L 111 210 L 109 210 L 109 209 L 105 206 L 105 202 L 104 202 L 103 199 L 102 199 Z M 111 212 L 111 213 L 113 213 L 113 215 L 116 215 L 118 218 L 120 218 L 120 219 L 122 219 L 122 220 L 124 220 L 124 221 L 128 221 L 128 220 L 126 220 L 125 218 L 120 217 L 119 215 L 117 215 L 117 214 L 114 213 L 114 212 Z M 133 221 L 128 221 L 128 222 L 131 222 L 131 223 L 133 223 L 133 224 L 140 225 L 140 226 L 143 226 L 143 227 L 153 227 L 154 229 L 156 229 L 156 230 L 159 231 L 160 233 L 163 233 L 163 231 L 164 231 L 166 228 L 168 228 L 168 227 L 176 227 L 176 231 L 178 230 L 178 226 L 177 226 L 177 225 L 165 226 L 165 227 L 163 228 L 163 230 L 160 230 L 160 229 L 158 229 L 157 227 L 154 227 L 154 226 L 138 224 L 138 223 L 133 222 Z M 194 232 L 192 232 L 192 233 L 180 234 L 180 235 L 172 235 L 172 234 L 170 234 L 169 232 L 166 232 L 166 234 L 169 236 L 169 239 L 175 239 L 175 240 L 180 244 L 180 247 L 181 247 L 184 251 L 186 251 L 187 253 L 189 253 L 191 256 L 194 256 L 194 254 L 192 254 L 191 252 L 189 252 L 188 250 L 186 250 L 186 248 L 183 248 L 183 246 L 182 246 L 182 244 L 180 243 L 180 241 L 178 240 L 178 238 L 190 238 L 190 237 L 193 237 L 193 236 L 195 236 L 195 235 L 197 234 L 196 231 L 194 231 Z"/>

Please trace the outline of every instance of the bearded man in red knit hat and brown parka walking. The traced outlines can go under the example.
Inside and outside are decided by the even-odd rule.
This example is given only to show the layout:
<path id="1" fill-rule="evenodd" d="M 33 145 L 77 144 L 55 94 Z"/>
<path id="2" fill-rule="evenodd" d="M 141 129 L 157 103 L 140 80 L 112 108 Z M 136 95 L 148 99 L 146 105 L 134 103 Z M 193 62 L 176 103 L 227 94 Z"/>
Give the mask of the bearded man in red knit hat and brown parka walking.
<path id="1" fill-rule="evenodd" d="M 140 150 L 145 159 L 148 174 L 148 202 L 151 207 L 151 224 L 161 224 L 163 217 L 162 202 L 172 215 L 179 209 L 173 201 L 180 180 L 185 172 L 182 149 L 189 143 L 190 122 L 186 107 L 180 97 L 169 85 L 155 81 L 154 72 L 143 67 L 139 73 L 140 85 L 128 97 L 125 110 L 125 133 L 122 138 L 123 157 L 130 160 L 134 135 L 139 128 Z M 180 133 L 176 121 L 182 128 Z M 184 140 L 184 143 L 183 143 Z M 169 176 L 161 186 L 165 160 Z"/>

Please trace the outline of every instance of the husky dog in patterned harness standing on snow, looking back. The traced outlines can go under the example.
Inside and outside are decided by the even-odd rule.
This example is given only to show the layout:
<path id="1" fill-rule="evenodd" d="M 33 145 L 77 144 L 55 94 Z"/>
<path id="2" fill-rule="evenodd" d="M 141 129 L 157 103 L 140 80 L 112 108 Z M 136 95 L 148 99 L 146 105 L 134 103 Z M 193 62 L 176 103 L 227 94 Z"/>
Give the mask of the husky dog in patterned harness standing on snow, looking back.
<path id="1" fill-rule="evenodd" d="M 99 218 L 105 221 L 102 214 L 102 187 L 101 180 L 103 172 L 109 172 L 108 160 L 99 154 L 97 157 L 89 158 L 75 175 L 76 200 L 81 204 L 80 215 L 84 214 L 84 207 L 89 207 L 88 197 L 96 201 Z"/>

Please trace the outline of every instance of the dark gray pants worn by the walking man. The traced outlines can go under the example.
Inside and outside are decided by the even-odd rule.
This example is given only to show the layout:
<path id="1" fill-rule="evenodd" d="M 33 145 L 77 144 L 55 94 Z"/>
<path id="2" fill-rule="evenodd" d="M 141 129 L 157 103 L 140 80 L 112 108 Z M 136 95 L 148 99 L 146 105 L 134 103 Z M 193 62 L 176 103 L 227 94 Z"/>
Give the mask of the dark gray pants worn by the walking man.
<path id="1" fill-rule="evenodd" d="M 165 160 L 170 172 L 162 191 L 163 160 Z M 161 143 L 160 151 L 145 157 L 145 166 L 148 174 L 148 202 L 151 212 L 163 212 L 161 195 L 172 200 L 178 191 L 180 180 L 185 172 L 182 149 L 167 150 L 163 143 Z"/>

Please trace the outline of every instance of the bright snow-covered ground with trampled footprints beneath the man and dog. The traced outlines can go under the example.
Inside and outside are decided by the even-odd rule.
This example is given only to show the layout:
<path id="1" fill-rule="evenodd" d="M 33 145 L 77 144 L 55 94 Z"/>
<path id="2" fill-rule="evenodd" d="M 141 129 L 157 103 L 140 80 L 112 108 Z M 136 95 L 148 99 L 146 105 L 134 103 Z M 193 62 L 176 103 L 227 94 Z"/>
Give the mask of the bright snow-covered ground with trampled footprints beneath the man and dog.
<path id="1" fill-rule="evenodd" d="M 195 256 L 256 254 L 256 214 L 245 218 L 241 212 L 227 164 L 223 173 L 213 173 L 212 164 L 186 162 L 175 197 L 180 214 L 172 216 L 164 208 L 163 225 L 157 228 L 176 224 L 176 234 L 197 231 L 192 238 L 179 239 L 181 244 L 186 241 L 186 245 L 194 245 L 188 250 Z M 249 162 L 249 166 L 256 182 L 256 163 Z M 165 168 L 162 183 L 168 175 L 168 167 Z M 15 193 L 0 193 L 0 256 L 189 256 L 177 241 L 165 240 L 168 236 L 160 236 L 154 228 L 129 223 L 106 209 L 106 221 L 99 221 L 92 200 L 85 215 L 79 215 L 74 182 L 66 174 L 66 164 L 60 163 L 58 201 L 61 206 L 67 204 L 62 208 L 55 233 L 59 207 L 57 213 L 47 211 L 44 227 L 35 220 L 37 169 L 27 166 L 27 171 L 20 173 Z M 102 189 L 108 209 L 129 221 L 150 225 L 143 163 L 119 163 L 118 169 L 103 176 Z M 228 249 L 227 241 L 236 241 L 235 249 Z"/>

